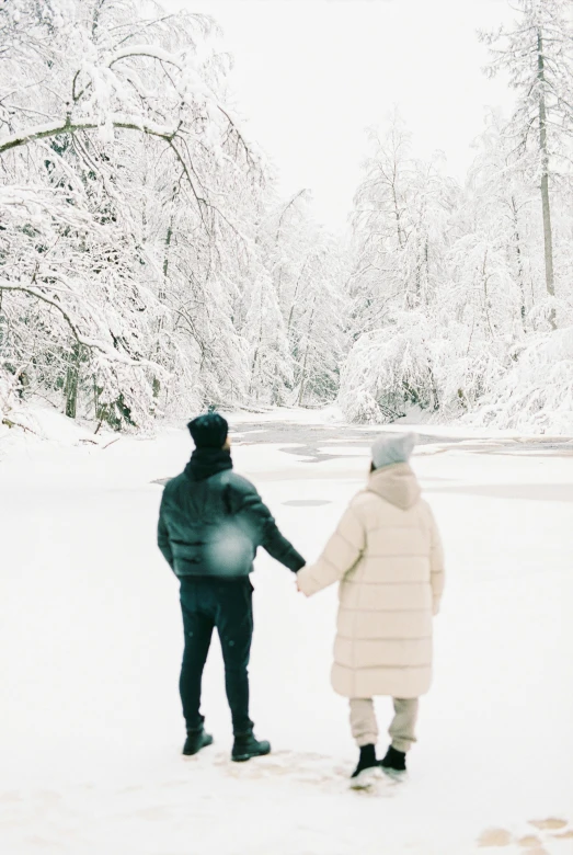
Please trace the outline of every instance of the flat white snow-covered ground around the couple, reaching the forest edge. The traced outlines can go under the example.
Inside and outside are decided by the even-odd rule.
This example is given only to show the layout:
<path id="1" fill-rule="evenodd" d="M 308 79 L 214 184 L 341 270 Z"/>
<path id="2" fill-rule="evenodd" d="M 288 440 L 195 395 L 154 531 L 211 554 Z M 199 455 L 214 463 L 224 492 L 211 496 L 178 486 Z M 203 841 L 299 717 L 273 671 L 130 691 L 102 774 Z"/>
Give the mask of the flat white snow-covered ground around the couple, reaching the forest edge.
<path id="1" fill-rule="evenodd" d="M 312 559 L 363 482 L 364 447 L 336 444 L 334 424 L 318 461 L 238 438 L 237 468 Z M 103 445 L 28 436 L 0 463 L 2 855 L 573 851 L 573 456 L 438 443 L 414 459 L 448 559 L 435 684 L 409 779 L 359 795 L 329 682 L 335 591 L 306 601 L 264 555 L 252 711 L 274 753 L 229 762 L 215 643 L 216 743 L 183 760 L 177 585 L 154 545 L 152 481 L 180 471 L 191 443 L 171 430 Z M 383 725 L 389 702 L 378 708 Z"/>

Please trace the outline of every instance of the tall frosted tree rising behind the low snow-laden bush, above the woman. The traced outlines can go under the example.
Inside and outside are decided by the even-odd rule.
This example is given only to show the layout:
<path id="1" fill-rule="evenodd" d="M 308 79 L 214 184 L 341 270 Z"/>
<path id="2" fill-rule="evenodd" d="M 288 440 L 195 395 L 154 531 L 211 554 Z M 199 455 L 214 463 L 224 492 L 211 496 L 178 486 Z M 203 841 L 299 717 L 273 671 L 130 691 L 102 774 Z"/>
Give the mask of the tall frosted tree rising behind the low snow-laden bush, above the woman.
<path id="1" fill-rule="evenodd" d="M 357 332 L 376 329 L 394 308 L 431 299 L 443 277 L 445 229 L 456 187 L 439 169 L 411 155 L 398 113 L 386 133 L 369 133 L 371 155 L 355 196 L 352 294 Z"/>

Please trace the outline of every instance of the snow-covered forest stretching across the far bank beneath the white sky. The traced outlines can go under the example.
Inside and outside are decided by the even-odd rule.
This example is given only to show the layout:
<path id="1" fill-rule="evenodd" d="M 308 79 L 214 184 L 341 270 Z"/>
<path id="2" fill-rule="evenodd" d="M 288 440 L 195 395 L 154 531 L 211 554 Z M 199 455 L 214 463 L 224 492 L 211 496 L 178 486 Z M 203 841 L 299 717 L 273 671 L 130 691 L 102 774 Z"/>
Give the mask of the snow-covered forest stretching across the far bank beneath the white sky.
<path id="1" fill-rule="evenodd" d="M 345 238 L 282 197 L 217 24 L 136 0 L 0 2 L 0 414 L 139 430 L 202 408 L 566 432 L 573 23 L 514 0 L 477 34 L 514 107 L 466 180 L 398 109 Z"/>

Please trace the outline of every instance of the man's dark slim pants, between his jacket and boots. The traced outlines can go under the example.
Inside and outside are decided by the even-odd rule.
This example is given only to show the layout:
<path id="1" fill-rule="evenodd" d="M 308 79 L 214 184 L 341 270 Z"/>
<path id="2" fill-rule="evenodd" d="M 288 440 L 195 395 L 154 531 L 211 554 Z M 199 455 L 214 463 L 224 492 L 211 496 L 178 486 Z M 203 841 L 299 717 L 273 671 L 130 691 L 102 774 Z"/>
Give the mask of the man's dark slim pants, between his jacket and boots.
<path id="1" fill-rule="evenodd" d="M 253 728 L 249 718 L 249 659 L 253 638 L 251 580 L 188 577 L 181 582 L 185 650 L 180 693 L 187 730 L 203 726 L 200 684 L 213 630 L 225 662 L 225 687 L 234 734 Z"/>

